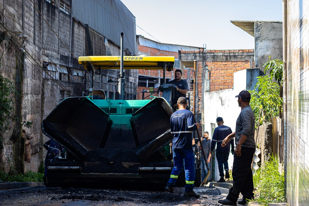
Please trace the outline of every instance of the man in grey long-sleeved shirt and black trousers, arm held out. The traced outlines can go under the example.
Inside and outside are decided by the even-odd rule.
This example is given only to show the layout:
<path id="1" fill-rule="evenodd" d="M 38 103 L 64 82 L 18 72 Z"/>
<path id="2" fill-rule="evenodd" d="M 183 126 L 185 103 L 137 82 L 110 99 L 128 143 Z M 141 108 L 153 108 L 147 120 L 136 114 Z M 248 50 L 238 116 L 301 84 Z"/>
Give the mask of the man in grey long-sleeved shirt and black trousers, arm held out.
<path id="1" fill-rule="evenodd" d="M 254 199 L 253 179 L 251 163 L 255 152 L 254 141 L 254 113 L 249 106 L 251 95 L 248 91 L 241 91 L 238 97 L 238 104 L 241 107 L 240 114 L 236 120 L 235 132 L 227 136 L 223 142 L 224 147 L 231 138 L 235 137 L 235 152 L 232 169 L 233 187 L 229 190 L 229 194 L 224 200 L 218 200 L 218 203 L 224 205 L 246 204 L 246 199 Z M 243 195 L 242 200 L 238 200 L 239 193 Z"/>

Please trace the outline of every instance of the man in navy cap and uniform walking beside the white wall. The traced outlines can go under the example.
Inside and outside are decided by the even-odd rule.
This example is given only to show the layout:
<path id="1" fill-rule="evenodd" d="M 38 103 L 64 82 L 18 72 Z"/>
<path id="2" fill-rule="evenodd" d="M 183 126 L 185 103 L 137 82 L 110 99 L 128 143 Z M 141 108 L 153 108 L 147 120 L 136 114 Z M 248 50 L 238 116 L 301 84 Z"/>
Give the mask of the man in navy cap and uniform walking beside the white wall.
<path id="1" fill-rule="evenodd" d="M 222 182 L 225 182 L 225 179 L 230 178 L 229 164 L 227 161 L 229 159 L 230 151 L 232 154 L 234 153 L 234 139 L 231 139 L 226 144 L 226 147 L 222 147 L 221 146 L 222 141 L 225 139 L 225 137 L 227 137 L 229 134 L 232 133 L 232 130 L 230 127 L 223 125 L 224 122 L 223 122 L 222 117 L 218 117 L 216 121 L 217 121 L 218 127 L 214 129 L 210 152 L 212 155 L 214 154 L 214 148 L 217 144 L 216 158 L 218 162 L 219 175 L 220 175 L 220 179 L 217 182 L 222 183 Z M 231 146 L 232 146 L 232 150 L 230 150 Z M 224 179 L 223 166 L 225 170 L 225 179 Z"/>

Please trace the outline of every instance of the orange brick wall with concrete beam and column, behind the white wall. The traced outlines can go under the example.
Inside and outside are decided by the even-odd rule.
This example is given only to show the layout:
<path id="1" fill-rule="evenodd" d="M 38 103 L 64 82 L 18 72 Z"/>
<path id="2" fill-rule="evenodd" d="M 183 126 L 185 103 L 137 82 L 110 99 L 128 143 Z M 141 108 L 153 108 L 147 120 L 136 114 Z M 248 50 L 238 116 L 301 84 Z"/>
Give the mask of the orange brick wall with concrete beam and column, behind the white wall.
<path id="1" fill-rule="evenodd" d="M 203 70 L 203 61 L 211 69 L 210 91 L 231 89 L 233 87 L 234 72 L 252 68 L 254 65 L 253 49 L 235 50 L 185 50 L 180 51 L 181 61 L 197 60 L 197 97 L 196 111 L 201 113 L 203 107 L 203 92 L 206 70 Z M 191 70 L 191 75 L 195 73 Z M 209 74 L 208 74 L 209 75 Z M 194 77 L 192 76 L 192 79 Z"/>

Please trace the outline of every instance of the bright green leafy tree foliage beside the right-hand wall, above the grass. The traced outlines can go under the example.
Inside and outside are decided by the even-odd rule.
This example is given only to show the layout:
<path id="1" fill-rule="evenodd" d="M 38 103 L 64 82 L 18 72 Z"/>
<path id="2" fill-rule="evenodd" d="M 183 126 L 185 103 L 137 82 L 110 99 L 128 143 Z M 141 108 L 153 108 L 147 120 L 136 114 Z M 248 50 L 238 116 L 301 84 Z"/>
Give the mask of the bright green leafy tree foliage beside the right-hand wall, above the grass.
<path id="1" fill-rule="evenodd" d="M 283 63 L 278 59 L 271 59 L 264 65 L 265 73 L 270 69 L 270 75 L 257 77 L 254 90 L 249 90 L 251 94 L 250 106 L 255 115 L 255 127 L 264 122 L 273 122 L 273 117 L 279 116 L 282 107 L 280 98 L 280 85 L 282 83 Z M 273 82 L 272 79 L 277 82 Z"/>

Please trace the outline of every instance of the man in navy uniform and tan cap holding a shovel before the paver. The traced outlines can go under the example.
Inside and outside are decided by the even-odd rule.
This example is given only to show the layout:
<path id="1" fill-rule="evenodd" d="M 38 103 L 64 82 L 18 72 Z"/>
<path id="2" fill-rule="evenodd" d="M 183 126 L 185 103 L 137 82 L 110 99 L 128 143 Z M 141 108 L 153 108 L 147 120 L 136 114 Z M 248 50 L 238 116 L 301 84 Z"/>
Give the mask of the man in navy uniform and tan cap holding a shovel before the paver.
<path id="1" fill-rule="evenodd" d="M 173 160 L 174 167 L 171 172 L 170 179 L 167 182 L 165 190 L 173 193 L 178 175 L 184 166 L 186 175 L 186 185 L 184 187 L 184 196 L 199 198 L 193 191 L 195 180 L 194 153 L 192 149 L 192 131 L 195 131 L 200 126 L 194 123 L 193 114 L 186 110 L 188 106 L 187 99 L 180 97 L 177 101 L 179 110 L 171 115 L 171 134 L 173 135 Z"/>

